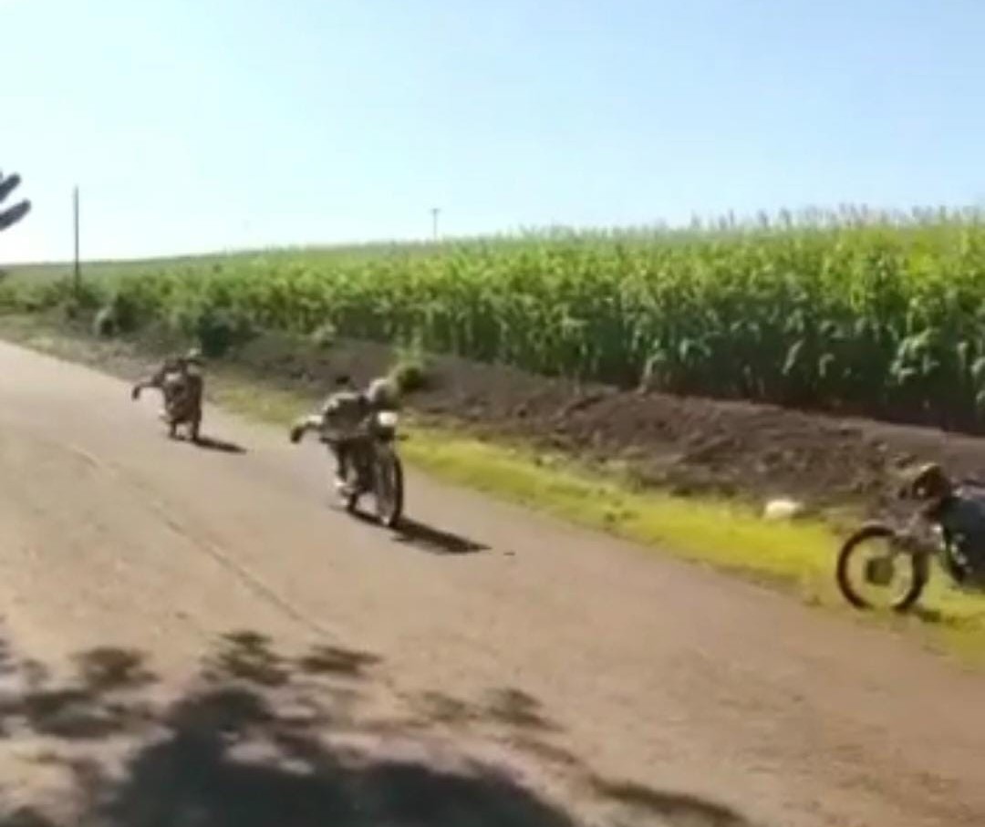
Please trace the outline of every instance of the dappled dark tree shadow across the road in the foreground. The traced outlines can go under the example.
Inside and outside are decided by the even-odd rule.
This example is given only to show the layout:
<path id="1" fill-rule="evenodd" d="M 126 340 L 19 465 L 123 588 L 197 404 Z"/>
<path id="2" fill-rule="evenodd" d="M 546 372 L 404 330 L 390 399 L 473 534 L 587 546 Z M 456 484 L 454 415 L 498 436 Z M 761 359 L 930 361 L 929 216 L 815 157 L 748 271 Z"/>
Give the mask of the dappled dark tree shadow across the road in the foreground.
<path id="1" fill-rule="evenodd" d="M 43 800 L 4 813 L 9 799 L 0 791 L 0 827 L 579 823 L 570 806 L 459 749 L 458 739 L 449 752 L 434 730 L 434 706 L 375 726 L 361 704 L 384 688 L 379 668 L 377 656 L 337 644 L 285 655 L 253 631 L 222 636 L 183 689 L 165 685 L 132 650 L 82 653 L 64 679 L 34 668 L 4 696 L 0 721 L 53 744 L 43 761 L 64 773 L 74 814 L 51 815 Z M 465 706 L 467 718 L 510 732 L 558 730 L 536 699 L 516 689 Z M 694 827 L 748 827 L 687 795 L 602 781 L 594 793 L 621 812 L 656 814 L 669 824 L 680 817 Z"/>

